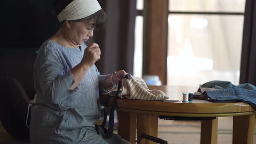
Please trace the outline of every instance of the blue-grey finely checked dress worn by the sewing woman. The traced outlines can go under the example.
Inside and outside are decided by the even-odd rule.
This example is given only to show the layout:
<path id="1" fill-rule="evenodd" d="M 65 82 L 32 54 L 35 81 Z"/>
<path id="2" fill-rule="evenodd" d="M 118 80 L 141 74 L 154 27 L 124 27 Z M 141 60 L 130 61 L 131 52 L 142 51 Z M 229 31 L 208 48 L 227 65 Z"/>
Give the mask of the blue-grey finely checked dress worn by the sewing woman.
<path id="1" fill-rule="evenodd" d="M 71 69 L 81 62 L 86 45 L 66 48 L 47 40 L 34 66 L 36 105 L 31 110 L 30 140 L 33 144 L 107 144 L 95 131 L 100 116 L 98 95 L 107 75 L 93 65 L 75 88 Z"/>

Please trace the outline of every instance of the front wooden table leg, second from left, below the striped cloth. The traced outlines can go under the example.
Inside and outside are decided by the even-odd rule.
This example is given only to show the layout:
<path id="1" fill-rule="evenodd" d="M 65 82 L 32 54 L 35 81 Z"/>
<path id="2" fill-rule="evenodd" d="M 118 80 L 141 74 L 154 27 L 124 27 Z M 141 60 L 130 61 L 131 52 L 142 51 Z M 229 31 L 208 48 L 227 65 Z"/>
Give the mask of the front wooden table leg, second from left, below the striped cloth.
<path id="1" fill-rule="evenodd" d="M 141 143 L 140 135 L 148 134 L 158 137 L 158 115 L 137 115 L 137 144 Z M 155 142 L 145 140 L 145 144 L 156 144 Z"/>

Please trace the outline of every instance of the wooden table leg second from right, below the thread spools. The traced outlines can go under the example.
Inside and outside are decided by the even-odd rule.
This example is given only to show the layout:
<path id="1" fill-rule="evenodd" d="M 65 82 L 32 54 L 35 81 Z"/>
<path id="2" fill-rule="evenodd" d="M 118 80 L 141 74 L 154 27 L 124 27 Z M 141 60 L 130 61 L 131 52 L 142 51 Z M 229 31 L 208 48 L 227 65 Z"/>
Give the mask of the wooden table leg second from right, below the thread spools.
<path id="1" fill-rule="evenodd" d="M 200 144 L 217 144 L 218 117 L 214 120 L 202 120 Z"/>

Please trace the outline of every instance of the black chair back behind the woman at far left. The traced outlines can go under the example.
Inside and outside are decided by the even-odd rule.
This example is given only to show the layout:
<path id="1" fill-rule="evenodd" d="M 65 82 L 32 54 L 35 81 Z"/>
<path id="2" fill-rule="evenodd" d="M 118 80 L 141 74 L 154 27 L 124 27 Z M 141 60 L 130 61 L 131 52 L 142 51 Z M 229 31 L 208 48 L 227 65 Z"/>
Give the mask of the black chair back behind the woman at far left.
<path id="1" fill-rule="evenodd" d="M 17 142 L 29 142 L 30 133 L 26 118 L 30 101 L 26 92 L 20 83 L 12 78 L 0 79 L 0 92 L 0 121 L 3 127 Z"/>

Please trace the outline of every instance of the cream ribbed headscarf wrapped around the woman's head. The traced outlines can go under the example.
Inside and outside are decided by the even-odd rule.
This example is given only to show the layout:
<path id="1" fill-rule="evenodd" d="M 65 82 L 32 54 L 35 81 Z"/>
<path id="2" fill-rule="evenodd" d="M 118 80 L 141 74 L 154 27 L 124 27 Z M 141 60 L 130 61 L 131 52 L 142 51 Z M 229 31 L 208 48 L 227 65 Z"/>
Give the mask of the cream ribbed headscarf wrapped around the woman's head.
<path id="1" fill-rule="evenodd" d="M 101 10 L 97 0 L 73 0 L 59 13 L 58 20 L 79 20 Z"/>

